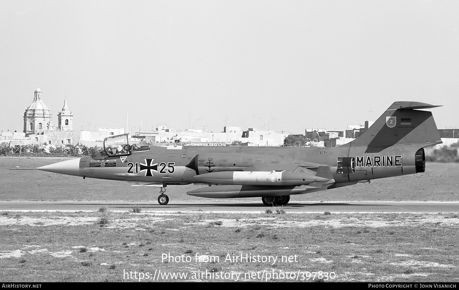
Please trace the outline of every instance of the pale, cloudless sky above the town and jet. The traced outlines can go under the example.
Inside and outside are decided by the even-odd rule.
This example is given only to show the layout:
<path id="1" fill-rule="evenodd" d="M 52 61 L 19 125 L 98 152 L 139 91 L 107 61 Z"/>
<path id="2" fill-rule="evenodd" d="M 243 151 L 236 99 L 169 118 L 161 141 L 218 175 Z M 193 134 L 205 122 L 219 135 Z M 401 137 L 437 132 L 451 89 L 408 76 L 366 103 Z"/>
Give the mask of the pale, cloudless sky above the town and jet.
<path id="1" fill-rule="evenodd" d="M 459 1 L 0 1 L 0 128 L 39 85 L 75 130 L 304 134 L 394 101 L 459 128 Z M 129 112 L 129 118 L 128 116 Z M 127 124 L 129 122 L 129 124 Z"/>

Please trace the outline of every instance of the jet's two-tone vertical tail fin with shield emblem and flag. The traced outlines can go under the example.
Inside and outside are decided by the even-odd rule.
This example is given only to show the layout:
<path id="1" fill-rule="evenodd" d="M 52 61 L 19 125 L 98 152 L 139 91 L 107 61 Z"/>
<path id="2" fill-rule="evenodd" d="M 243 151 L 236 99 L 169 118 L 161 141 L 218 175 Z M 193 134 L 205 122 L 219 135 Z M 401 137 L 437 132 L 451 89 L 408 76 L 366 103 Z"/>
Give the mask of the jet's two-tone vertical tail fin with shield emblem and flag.
<path id="1" fill-rule="evenodd" d="M 380 152 L 392 145 L 420 143 L 420 147 L 442 143 L 430 109 L 433 106 L 420 102 L 394 102 L 376 122 L 350 146 L 367 146 L 365 153 Z"/>

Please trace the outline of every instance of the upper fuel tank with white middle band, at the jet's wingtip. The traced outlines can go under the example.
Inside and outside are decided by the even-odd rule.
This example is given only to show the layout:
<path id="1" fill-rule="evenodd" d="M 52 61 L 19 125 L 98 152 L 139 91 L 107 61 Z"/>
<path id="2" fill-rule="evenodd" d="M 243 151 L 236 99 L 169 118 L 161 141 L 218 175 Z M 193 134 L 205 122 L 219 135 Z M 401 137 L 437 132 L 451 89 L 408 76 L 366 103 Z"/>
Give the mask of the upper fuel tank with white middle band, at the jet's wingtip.
<path id="1" fill-rule="evenodd" d="M 196 179 L 196 182 L 238 185 L 303 185 L 329 180 L 315 175 L 286 171 L 214 172 L 196 175 L 193 178 Z"/>

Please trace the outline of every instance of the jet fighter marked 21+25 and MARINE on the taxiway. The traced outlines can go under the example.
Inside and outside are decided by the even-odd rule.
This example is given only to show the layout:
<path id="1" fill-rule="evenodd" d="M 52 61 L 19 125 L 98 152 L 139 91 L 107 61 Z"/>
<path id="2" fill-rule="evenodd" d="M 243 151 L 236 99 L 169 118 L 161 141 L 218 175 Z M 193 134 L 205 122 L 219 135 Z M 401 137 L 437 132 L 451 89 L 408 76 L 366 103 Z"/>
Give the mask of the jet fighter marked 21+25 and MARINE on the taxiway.
<path id="1" fill-rule="evenodd" d="M 192 183 L 208 186 L 188 195 L 286 205 L 290 195 L 424 172 L 423 148 L 442 141 L 431 112 L 419 109 L 434 107 L 395 102 L 357 139 L 334 148 L 129 145 L 123 134 L 106 138 L 93 156 L 36 169 L 159 187 L 161 205 L 167 185 Z"/>

